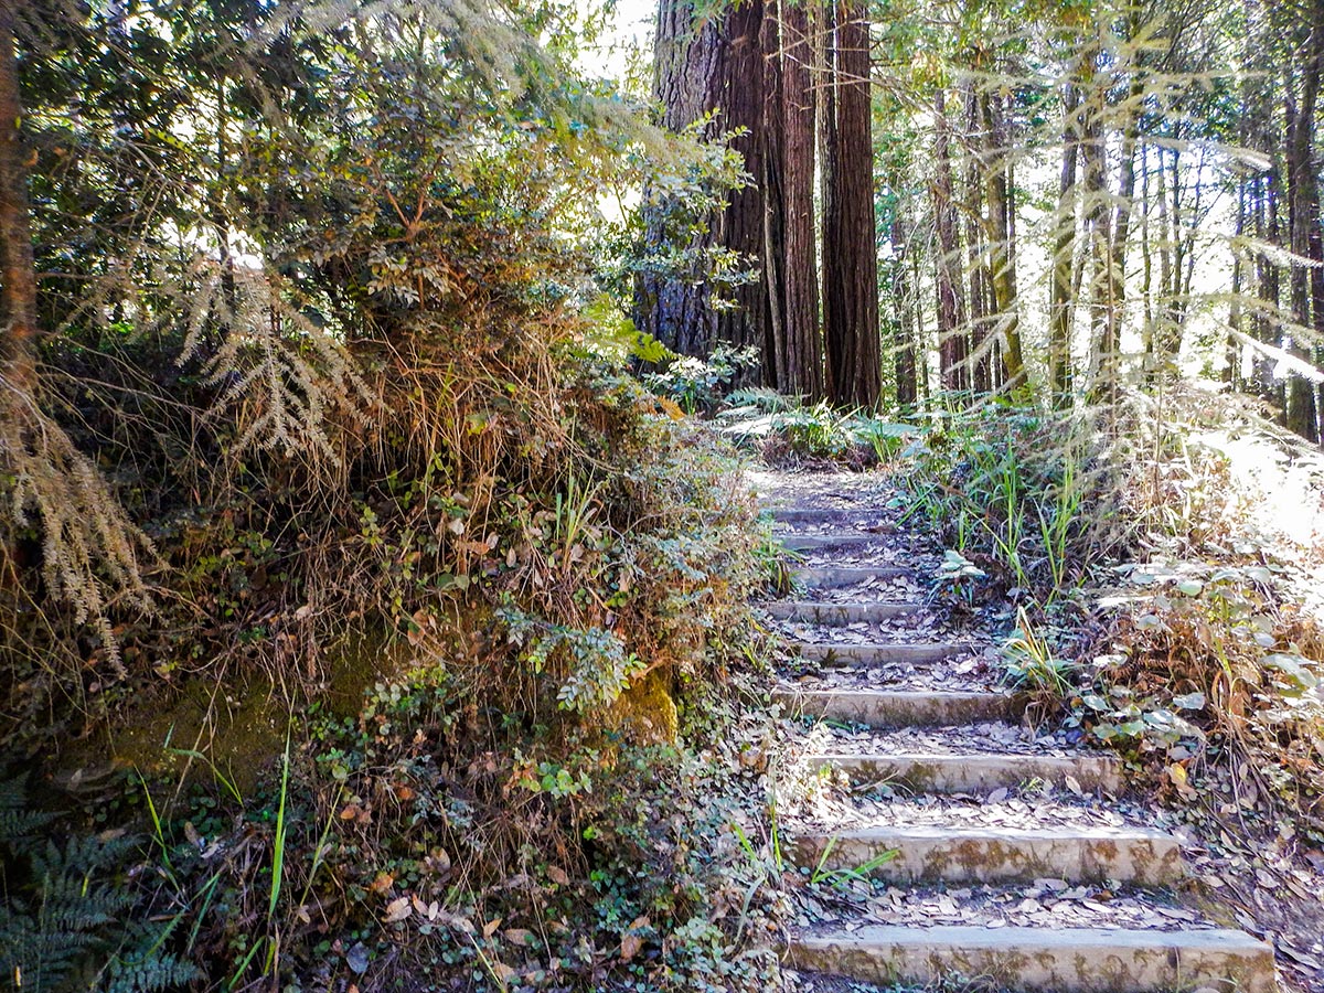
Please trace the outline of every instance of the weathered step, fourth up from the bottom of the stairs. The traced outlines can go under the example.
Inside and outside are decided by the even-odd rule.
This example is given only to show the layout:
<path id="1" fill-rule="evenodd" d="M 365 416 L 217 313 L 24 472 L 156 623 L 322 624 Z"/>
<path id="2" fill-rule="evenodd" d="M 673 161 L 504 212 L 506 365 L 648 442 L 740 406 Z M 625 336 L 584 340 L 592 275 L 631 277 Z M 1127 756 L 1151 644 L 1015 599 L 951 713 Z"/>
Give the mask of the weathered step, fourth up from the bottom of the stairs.
<path id="1" fill-rule="evenodd" d="M 792 716 L 876 728 L 1014 720 L 1025 711 L 1023 696 L 992 690 L 775 690 L 772 699 Z"/>

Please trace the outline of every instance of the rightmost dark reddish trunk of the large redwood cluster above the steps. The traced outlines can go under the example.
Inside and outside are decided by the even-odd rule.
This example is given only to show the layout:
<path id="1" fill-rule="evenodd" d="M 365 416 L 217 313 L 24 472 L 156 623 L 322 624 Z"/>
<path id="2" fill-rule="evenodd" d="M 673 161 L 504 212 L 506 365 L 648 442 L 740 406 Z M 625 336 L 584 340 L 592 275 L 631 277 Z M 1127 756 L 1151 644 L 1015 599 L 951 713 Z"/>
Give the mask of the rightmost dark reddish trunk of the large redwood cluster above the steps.
<path id="1" fill-rule="evenodd" d="M 828 397 L 874 409 L 882 395 L 867 8 L 839 0 L 825 99 L 824 351 Z"/>

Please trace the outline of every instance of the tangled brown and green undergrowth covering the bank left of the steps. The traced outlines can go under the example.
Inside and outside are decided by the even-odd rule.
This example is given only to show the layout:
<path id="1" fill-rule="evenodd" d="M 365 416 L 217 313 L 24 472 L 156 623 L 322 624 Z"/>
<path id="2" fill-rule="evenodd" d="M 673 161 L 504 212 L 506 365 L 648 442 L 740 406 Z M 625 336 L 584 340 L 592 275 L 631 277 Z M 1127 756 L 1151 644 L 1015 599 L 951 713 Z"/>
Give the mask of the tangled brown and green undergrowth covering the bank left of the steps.
<path id="1" fill-rule="evenodd" d="M 87 960 L 37 988 L 146 939 L 204 989 L 764 989 L 769 898 L 730 870 L 767 818 L 733 700 L 771 540 L 731 448 L 629 372 L 583 220 L 733 166 L 564 53 L 466 61 L 445 9 L 285 16 L 253 85 L 318 111 L 236 122 L 208 211 L 257 261 L 203 232 L 41 301 L 33 402 L 99 489 L 57 514 L 0 473 L 0 747 L 58 814 L 7 927 L 110 833 L 99 912 L 169 925 L 70 920 Z M 25 989 L 64 968 L 15 948 Z"/>

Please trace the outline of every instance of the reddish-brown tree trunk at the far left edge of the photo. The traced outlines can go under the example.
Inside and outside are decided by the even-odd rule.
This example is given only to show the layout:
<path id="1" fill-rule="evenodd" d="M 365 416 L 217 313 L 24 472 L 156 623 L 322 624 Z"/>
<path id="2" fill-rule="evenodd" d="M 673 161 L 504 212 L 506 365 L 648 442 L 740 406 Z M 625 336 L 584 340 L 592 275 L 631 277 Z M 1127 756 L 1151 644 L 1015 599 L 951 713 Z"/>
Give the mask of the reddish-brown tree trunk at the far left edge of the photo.
<path id="1" fill-rule="evenodd" d="M 7 417 L 37 391 L 37 273 L 15 29 L 13 4 L 0 0 L 0 416 Z"/>

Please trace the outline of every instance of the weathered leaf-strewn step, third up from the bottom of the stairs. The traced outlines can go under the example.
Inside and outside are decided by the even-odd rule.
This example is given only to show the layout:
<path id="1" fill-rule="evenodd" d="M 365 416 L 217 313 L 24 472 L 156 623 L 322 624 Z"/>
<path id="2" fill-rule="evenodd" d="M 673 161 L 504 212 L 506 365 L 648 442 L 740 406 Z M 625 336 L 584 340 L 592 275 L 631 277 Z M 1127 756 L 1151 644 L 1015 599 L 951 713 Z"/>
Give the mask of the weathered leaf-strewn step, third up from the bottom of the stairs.
<path id="1" fill-rule="evenodd" d="M 900 784 L 923 793 L 990 793 L 1016 789 L 1022 782 L 1045 780 L 1054 785 L 1067 776 L 1080 789 L 1117 793 L 1120 764 L 1104 755 L 951 755 L 945 752 L 900 755 L 812 755 L 814 769 L 843 772 L 855 784 Z"/>

